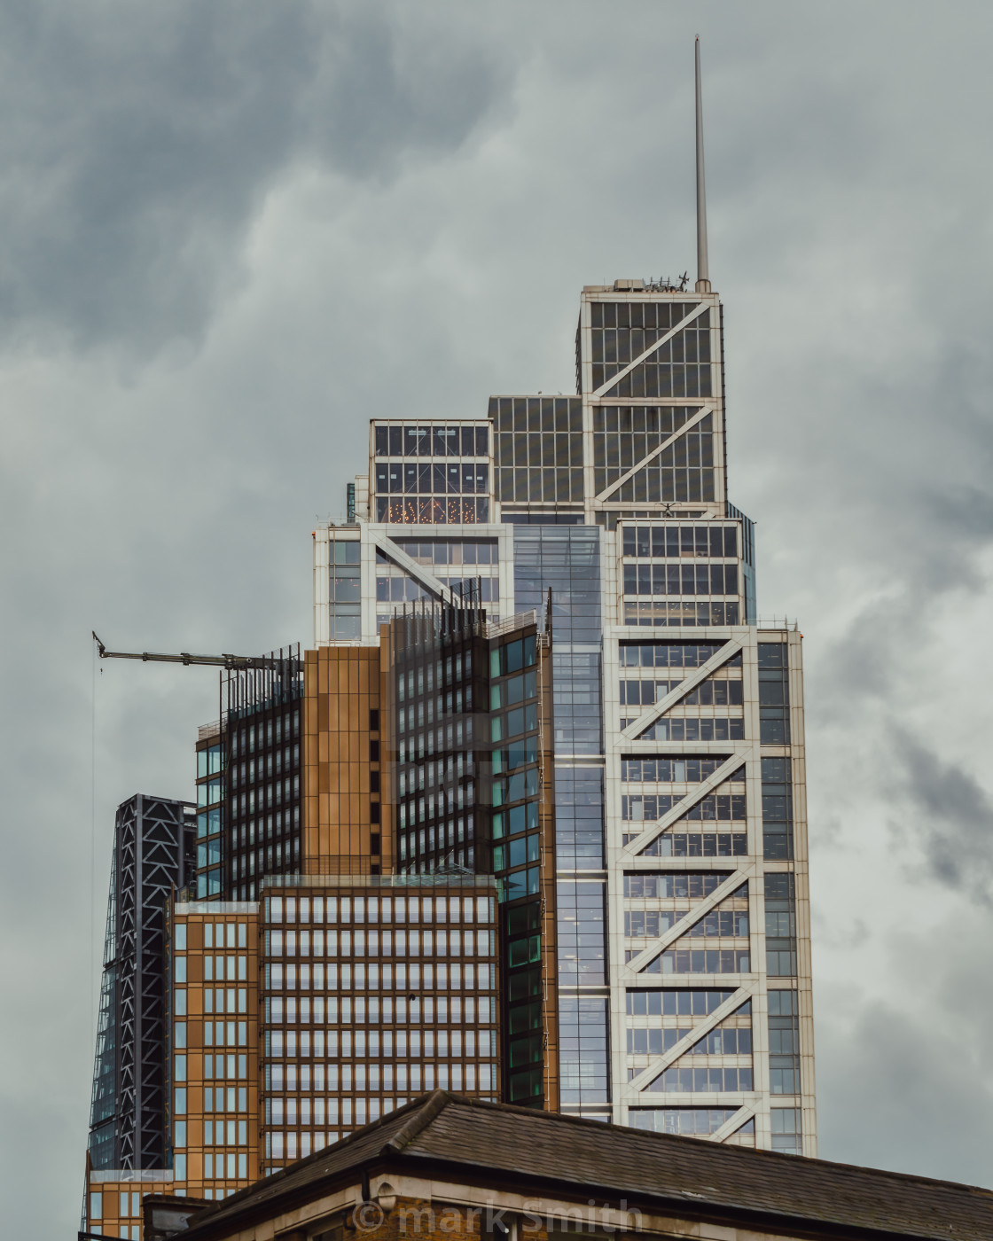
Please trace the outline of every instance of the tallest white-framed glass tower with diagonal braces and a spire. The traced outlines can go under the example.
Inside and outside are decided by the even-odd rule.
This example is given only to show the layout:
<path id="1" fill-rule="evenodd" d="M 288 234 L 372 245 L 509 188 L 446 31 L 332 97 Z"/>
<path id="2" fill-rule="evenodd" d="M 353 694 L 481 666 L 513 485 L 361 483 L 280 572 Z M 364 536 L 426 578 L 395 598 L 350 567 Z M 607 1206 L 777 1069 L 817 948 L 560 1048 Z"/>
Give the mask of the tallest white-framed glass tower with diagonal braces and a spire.
<path id="1" fill-rule="evenodd" d="M 372 423 L 354 522 L 315 532 L 315 644 L 375 644 L 397 613 L 464 599 L 473 578 L 480 638 L 494 617 L 547 635 L 536 771 L 554 793 L 535 862 L 556 885 L 528 951 L 549 951 L 554 917 L 559 1106 L 814 1154 L 801 635 L 757 620 L 753 527 L 727 498 L 699 67 L 698 172 L 695 289 L 585 288 L 575 397 L 493 397 L 488 432 Z M 439 779 L 427 674 L 415 694 L 416 714 L 397 694 L 384 722 L 406 748 L 382 814 L 400 865 L 423 872 L 443 848 L 437 805 L 433 825 L 420 819 L 422 784 Z M 478 737 L 472 761 L 490 778 L 473 784 L 472 865 L 495 871 L 495 824 L 518 825 L 506 848 L 526 859 L 531 812 L 526 776 L 496 779 L 496 733 L 489 753 Z M 546 1009 L 550 983 L 545 972 Z M 513 1071 L 508 1082 L 514 1100 Z M 534 1101 L 555 1106 L 547 1091 Z"/>

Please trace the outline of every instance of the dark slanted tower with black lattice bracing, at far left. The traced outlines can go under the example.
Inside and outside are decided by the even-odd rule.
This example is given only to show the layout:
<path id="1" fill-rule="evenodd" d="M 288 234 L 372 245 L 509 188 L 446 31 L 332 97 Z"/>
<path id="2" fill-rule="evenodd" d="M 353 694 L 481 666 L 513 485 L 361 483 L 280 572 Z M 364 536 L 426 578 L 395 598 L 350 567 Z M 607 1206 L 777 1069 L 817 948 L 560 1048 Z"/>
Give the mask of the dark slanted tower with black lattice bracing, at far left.
<path id="1" fill-rule="evenodd" d="M 114 823 L 87 1163 L 165 1167 L 165 907 L 194 869 L 192 805 L 138 793 Z"/>

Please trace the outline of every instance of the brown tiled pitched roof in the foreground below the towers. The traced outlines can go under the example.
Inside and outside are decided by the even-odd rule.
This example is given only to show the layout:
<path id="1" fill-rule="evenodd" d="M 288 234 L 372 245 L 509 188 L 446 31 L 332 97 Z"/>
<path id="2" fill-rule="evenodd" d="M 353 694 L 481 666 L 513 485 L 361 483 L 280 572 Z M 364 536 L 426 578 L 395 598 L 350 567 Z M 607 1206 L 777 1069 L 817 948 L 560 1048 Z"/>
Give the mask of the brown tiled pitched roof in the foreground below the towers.
<path id="1" fill-rule="evenodd" d="M 444 1091 L 416 1100 L 343 1142 L 207 1207 L 190 1241 L 317 1198 L 362 1168 L 402 1167 L 508 1189 L 559 1186 L 626 1198 L 680 1217 L 720 1219 L 807 1235 L 989 1241 L 993 1193 L 952 1181 L 729 1147 Z M 420 1168 L 418 1168 L 420 1165 Z"/>

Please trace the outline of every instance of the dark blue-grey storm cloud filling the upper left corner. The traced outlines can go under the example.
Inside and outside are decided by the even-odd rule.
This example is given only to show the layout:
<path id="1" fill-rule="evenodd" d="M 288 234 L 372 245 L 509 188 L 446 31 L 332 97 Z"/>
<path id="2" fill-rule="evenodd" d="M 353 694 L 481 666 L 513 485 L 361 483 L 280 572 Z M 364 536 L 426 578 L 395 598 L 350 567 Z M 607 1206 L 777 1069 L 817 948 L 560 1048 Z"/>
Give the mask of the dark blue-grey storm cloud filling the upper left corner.
<path id="1" fill-rule="evenodd" d="M 154 349 L 202 331 L 281 172 L 389 177 L 505 76 L 456 24 L 285 0 L 0 6 L 0 331 Z"/>

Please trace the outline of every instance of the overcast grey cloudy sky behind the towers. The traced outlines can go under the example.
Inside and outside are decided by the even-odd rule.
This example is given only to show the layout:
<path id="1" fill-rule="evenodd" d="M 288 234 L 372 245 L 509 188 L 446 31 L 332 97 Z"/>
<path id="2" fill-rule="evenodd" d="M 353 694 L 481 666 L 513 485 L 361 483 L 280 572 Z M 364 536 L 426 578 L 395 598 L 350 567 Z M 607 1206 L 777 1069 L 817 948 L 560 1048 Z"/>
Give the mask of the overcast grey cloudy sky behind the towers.
<path id="1" fill-rule="evenodd" d="M 217 714 L 89 630 L 307 642 L 370 417 L 570 391 L 581 285 L 693 267 L 698 30 L 820 1152 L 993 1185 L 989 6 L 0 0 L 9 1235 L 77 1226 L 113 808 L 189 795 Z"/>

